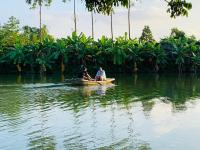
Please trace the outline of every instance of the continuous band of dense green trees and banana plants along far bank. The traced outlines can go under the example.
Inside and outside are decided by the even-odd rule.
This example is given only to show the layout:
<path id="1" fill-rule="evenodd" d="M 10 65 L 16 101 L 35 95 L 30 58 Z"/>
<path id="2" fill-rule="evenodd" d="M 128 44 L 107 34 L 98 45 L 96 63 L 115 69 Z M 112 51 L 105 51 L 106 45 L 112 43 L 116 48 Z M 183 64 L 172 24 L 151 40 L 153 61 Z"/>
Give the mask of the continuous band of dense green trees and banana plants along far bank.
<path id="1" fill-rule="evenodd" d="M 41 66 L 47 72 L 77 73 L 81 65 L 90 71 L 102 66 L 108 72 L 196 72 L 200 42 L 176 28 L 156 42 L 146 26 L 140 40 L 129 40 L 127 34 L 114 41 L 105 36 L 94 40 L 75 32 L 54 39 L 43 26 L 40 43 L 39 29 L 20 29 L 14 17 L 0 26 L 0 73 L 38 73 Z"/>

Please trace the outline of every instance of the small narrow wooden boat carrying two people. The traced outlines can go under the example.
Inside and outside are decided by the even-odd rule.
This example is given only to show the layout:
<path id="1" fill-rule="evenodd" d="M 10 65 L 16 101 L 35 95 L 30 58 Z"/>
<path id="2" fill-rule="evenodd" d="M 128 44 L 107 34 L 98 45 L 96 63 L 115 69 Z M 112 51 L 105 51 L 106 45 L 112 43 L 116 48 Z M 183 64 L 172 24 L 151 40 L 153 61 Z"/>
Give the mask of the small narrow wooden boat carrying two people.
<path id="1" fill-rule="evenodd" d="M 95 80 L 84 80 L 84 79 L 67 79 L 65 80 L 65 83 L 67 84 L 71 84 L 71 85 L 106 85 L 106 84 L 110 84 L 113 81 L 115 81 L 115 78 L 107 78 L 105 81 L 95 81 Z"/>

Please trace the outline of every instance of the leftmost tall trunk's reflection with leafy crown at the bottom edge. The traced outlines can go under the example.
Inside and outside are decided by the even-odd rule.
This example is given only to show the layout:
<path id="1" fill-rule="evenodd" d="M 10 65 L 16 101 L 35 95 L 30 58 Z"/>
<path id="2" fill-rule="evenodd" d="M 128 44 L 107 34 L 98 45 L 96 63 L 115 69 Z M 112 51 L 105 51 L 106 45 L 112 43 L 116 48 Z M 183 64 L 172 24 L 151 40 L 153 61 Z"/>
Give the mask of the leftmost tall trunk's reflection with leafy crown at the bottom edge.
<path id="1" fill-rule="evenodd" d="M 50 94 L 50 93 L 49 93 Z M 48 94 L 37 93 L 30 97 L 34 100 L 38 115 L 38 130 L 28 134 L 29 136 L 29 149 L 48 149 L 55 150 L 56 142 L 54 136 L 48 135 L 48 110 L 50 109 L 51 102 L 48 99 Z M 34 125 L 33 125 L 34 126 Z"/>

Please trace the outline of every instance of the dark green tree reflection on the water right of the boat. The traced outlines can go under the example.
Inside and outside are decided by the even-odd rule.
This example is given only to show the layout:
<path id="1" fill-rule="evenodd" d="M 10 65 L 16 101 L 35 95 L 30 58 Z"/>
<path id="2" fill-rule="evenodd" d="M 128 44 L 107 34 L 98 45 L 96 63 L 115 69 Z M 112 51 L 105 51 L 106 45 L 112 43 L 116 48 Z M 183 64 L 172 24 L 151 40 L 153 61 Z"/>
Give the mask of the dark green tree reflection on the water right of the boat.
<path id="1" fill-rule="evenodd" d="M 185 110 L 185 102 L 199 96 L 200 80 L 191 75 L 139 75 L 136 77 L 121 77 L 119 86 L 113 97 L 120 97 L 118 103 L 123 99 L 126 103 L 141 101 L 144 107 L 150 106 L 149 100 L 166 97 L 173 103 L 173 108 Z M 132 83 L 132 84 L 131 84 Z M 119 92 L 118 92 L 119 91 Z M 127 98 L 128 97 L 128 98 Z M 128 101 L 127 101 L 128 99 Z M 164 101 L 163 101 L 164 102 Z M 148 104 L 147 106 L 145 104 Z M 153 106 L 152 106 L 153 107 Z M 151 108 L 152 109 L 152 108 Z"/>

